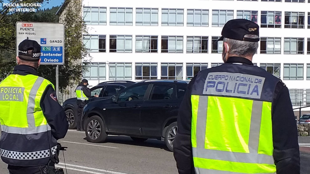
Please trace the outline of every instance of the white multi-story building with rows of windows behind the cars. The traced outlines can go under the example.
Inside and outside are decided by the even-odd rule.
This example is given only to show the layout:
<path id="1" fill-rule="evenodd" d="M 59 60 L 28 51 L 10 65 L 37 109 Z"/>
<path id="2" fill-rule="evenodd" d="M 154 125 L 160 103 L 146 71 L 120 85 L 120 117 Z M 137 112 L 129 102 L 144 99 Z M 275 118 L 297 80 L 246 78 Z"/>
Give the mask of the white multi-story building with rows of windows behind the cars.
<path id="1" fill-rule="evenodd" d="M 245 18 L 260 26 L 253 63 L 286 83 L 294 106 L 310 105 L 310 0 L 83 0 L 82 8 L 90 85 L 190 80 L 222 63 L 214 41 L 225 22 Z"/>

